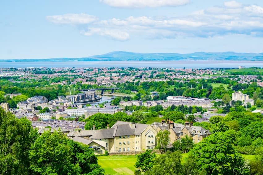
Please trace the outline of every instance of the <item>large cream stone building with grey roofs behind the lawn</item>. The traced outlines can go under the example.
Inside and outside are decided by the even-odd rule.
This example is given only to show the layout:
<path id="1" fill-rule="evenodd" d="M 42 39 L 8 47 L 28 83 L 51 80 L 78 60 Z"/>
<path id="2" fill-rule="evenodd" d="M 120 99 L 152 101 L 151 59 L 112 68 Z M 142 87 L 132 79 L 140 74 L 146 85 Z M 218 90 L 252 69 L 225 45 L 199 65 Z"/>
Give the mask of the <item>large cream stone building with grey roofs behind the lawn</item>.
<path id="1" fill-rule="evenodd" d="M 154 149 L 156 134 L 151 125 L 117 121 L 109 129 L 96 130 L 90 139 L 106 147 L 109 153 L 136 152 Z"/>

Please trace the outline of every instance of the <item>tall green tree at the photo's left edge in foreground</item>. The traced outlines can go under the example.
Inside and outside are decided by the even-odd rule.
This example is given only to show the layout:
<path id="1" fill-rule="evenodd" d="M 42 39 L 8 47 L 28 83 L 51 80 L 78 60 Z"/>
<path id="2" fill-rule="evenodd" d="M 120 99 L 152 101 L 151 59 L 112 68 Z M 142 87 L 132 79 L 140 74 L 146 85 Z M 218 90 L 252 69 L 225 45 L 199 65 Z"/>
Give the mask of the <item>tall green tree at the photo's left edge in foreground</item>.
<path id="1" fill-rule="evenodd" d="M 31 122 L 0 108 L 0 174 L 30 174 L 30 146 L 38 137 Z"/>

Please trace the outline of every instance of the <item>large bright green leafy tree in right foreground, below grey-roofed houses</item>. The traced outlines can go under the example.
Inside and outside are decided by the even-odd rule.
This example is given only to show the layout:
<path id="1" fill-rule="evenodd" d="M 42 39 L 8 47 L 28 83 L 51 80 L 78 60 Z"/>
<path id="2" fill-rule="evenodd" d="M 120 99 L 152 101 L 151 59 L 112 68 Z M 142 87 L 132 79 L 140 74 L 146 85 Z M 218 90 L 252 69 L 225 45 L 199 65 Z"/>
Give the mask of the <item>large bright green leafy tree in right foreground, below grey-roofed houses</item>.
<path id="1" fill-rule="evenodd" d="M 244 159 L 233 147 L 234 140 L 235 132 L 218 132 L 196 144 L 190 154 L 196 158 L 197 167 L 207 174 L 247 174 Z M 241 173 L 235 173 L 237 169 L 242 169 Z"/>

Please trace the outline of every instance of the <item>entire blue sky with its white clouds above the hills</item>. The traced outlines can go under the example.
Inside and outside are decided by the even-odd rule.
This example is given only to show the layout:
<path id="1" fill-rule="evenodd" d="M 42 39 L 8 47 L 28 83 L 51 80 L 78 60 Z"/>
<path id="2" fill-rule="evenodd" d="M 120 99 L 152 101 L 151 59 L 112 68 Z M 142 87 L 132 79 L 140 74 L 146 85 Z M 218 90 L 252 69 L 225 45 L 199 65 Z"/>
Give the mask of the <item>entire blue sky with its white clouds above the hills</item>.
<path id="1" fill-rule="evenodd" d="M 2 0 L 0 59 L 263 52 L 261 0 Z"/>

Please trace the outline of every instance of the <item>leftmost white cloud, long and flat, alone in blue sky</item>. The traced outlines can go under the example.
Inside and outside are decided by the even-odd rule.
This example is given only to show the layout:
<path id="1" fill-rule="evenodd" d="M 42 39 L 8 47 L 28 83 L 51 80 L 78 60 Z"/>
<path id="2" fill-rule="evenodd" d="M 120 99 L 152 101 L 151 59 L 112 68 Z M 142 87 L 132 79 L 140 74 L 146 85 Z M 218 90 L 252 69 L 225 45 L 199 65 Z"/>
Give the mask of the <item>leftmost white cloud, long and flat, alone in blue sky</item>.
<path id="1" fill-rule="evenodd" d="M 46 17 L 52 23 L 58 24 L 88 24 L 97 20 L 96 16 L 87 14 L 65 14 Z"/>

